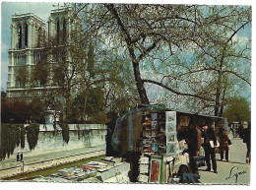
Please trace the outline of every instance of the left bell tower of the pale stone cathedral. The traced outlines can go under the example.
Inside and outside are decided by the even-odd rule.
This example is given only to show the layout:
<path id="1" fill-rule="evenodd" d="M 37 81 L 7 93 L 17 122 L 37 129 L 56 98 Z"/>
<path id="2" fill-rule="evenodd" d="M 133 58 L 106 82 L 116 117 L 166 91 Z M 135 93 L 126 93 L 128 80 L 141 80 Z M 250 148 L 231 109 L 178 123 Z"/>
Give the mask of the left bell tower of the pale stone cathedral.
<path id="1" fill-rule="evenodd" d="M 24 96 L 29 88 L 32 67 L 42 58 L 45 42 L 45 22 L 32 13 L 17 13 L 11 24 L 11 49 L 7 96 Z"/>

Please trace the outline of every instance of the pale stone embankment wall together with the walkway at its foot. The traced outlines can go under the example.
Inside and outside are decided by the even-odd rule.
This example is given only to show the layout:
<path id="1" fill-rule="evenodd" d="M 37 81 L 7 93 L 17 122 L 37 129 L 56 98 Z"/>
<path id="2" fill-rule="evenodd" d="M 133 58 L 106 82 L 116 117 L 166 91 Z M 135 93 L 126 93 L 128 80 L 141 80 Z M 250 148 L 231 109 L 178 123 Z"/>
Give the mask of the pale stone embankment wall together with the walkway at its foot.
<path id="1" fill-rule="evenodd" d="M 62 139 L 61 128 L 51 124 L 39 125 L 37 145 L 31 151 L 26 139 L 25 148 L 17 147 L 10 158 L 0 161 L 0 179 L 53 167 L 85 158 L 105 155 L 106 126 L 99 124 L 69 124 L 69 143 Z M 24 161 L 17 161 L 17 153 Z"/>

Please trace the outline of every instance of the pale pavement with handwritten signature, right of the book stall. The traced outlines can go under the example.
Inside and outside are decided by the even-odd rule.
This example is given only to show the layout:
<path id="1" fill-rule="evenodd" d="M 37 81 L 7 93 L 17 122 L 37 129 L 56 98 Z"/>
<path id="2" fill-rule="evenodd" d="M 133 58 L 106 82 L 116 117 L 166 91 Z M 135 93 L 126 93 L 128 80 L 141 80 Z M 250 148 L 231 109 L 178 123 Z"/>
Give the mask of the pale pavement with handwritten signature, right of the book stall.
<path id="1" fill-rule="evenodd" d="M 218 173 L 204 171 L 206 166 L 199 168 L 200 181 L 206 184 L 250 184 L 250 164 L 246 163 L 246 144 L 242 139 L 232 138 L 229 135 L 232 145 L 229 147 L 229 161 L 221 161 L 221 155 L 216 154 Z M 212 164 L 212 162 L 211 162 Z M 232 170 L 231 170 L 232 169 Z M 230 174 L 231 170 L 231 174 Z M 237 175 L 237 181 L 235 173 Z M 229 178 L 229 176 L 231 176 Z"/>

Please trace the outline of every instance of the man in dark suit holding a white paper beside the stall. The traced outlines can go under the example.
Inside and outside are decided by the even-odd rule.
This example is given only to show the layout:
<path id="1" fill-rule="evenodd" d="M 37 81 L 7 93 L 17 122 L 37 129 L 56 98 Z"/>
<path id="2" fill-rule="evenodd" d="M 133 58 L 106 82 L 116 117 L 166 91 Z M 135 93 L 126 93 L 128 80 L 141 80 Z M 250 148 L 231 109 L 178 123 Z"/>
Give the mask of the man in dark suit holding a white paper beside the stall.
<path id="1" fill-rule="evenodd" d="M 210 162 L 210 156 L 211 156 L 214 172 L 218 173 L 216 154 L 215 154 L 215 148 L 217 147 L 217 139 L 216 139 L 215 131 L 211 127 L 211 124 L 206 124 L 202 128 L 202 137 L 204 138 L 203 147 L 205 150 L 205 158 L 206 158 L 206 164 L 207 164 L 206 171 L 211 171 L 211 162 Z"/>

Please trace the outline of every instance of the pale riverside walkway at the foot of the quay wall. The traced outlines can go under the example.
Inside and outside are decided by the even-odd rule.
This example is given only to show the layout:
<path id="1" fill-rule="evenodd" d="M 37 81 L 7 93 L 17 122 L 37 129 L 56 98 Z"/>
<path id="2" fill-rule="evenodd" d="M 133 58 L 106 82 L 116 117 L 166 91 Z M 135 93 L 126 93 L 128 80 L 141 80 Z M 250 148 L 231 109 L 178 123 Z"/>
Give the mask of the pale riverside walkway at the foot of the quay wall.
<path id="1" fill-rule="evenodd" d="M 31 172 L 38 169 L 55 166 L 58 164 L 76 161 L 82 158 L 92 158 L 104 154 L 105 145 L 86 148 L 84 147 L 68 151 L 48 151 L 40 155 L 30 155 L 30 157 L 24 154 L 24 171 Z M 21 172 L 22 162 L 16 161 L 16 157 L 13 156 L 0 161 L 0 179 L 4 177 L 14 176 Z"/>

